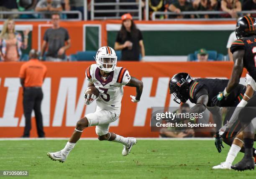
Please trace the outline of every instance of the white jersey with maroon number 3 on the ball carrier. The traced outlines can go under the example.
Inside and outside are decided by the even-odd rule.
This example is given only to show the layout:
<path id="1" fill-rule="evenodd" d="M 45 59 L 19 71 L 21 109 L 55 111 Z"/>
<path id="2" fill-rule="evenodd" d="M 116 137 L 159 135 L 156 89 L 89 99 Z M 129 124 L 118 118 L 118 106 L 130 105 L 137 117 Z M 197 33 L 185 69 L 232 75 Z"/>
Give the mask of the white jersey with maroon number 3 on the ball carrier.
<path id="1" fill-rule="evenodd" d="M 104 80 L 100 75 L 97 64 L 92 64 L 86 69 L 86 79 L 93 83 L 100 94 L 96 99 L 97 105 L 101 108 L 120 108 L 123 97 L 123 85 L 131 80 L 127 69 L 116 66 L 115 70 L 109 73 Z"/>

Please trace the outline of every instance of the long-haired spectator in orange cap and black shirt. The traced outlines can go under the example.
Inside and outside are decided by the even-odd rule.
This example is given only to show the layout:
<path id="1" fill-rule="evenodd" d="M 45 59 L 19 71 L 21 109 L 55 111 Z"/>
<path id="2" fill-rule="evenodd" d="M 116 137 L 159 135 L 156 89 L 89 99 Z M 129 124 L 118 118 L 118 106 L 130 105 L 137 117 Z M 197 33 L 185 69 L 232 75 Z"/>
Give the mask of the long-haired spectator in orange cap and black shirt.
<path id="1" fill-rule="evenodd" d="M 122 61 L 139 61 L 145 56 L 141 31 L 136 28 L 131 14 L 122 15 L 122 27 L 115 40 L 115 50 L 122 50 Z"/>

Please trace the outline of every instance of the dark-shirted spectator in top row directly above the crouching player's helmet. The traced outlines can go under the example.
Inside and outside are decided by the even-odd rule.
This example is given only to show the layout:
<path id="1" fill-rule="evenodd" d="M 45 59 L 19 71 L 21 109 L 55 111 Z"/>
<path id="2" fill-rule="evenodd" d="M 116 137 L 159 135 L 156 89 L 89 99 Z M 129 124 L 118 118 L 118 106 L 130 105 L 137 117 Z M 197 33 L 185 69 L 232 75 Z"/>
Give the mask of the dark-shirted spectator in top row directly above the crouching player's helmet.
<path id="1" fill-rule="evenodd" d="M 194 10 L 192 4 L 186 0 L 178 0 L 177 2 L 169 5 L 168 8 L 170 11 L 174 13 L 181 13 L 182 11 L 192 11 Z M 195 18 L 195 15 L 177 15 L 176 18 Z"/>

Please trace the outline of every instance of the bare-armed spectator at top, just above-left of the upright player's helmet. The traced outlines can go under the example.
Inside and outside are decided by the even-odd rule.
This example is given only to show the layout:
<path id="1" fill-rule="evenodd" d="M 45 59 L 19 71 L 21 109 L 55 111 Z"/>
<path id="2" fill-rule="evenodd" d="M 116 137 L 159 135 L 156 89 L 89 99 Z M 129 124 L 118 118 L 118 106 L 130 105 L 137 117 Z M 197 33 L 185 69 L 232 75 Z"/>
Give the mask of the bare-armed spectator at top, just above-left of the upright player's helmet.
<path id="1" fill-rule="evenodd" d="M 237 18 L 237 13 L 242 10 L 241 2 L 239 0 L 221 0 L 221 9 L 228 13 L 228 15 L 221 15 L 222 17 Z"/>

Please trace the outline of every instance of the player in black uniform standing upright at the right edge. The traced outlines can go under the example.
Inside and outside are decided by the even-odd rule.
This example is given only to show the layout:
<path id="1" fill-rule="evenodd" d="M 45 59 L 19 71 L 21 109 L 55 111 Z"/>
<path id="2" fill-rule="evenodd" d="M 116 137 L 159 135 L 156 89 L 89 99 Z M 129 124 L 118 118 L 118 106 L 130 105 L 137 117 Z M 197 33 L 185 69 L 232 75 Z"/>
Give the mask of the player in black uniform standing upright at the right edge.
<path id="1" fill-rule="evenodd" d="M 233 54 L 233 71 L 227 87 L 216 97 L 215 104 L 225 102 L 225 99 L 231 94 L 239 84 L 239 79 L 245 67 L 250 76 L 256 81 L 256 20 L 251 16 L 239 18 L 236 24 L 237 41 L 234 41 L 230 47 Z M 256 117 L 256 95 L 254 95 L 241 110 L 238 119 L 243 128 L 243 138 L 245 154 L 238 164 L 231 166 L 232 169 L 246 170 L 254 169 L 252 156 L 254 128 L 251 120 Z"/>

